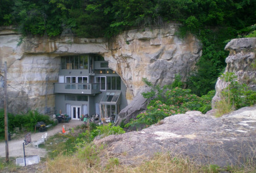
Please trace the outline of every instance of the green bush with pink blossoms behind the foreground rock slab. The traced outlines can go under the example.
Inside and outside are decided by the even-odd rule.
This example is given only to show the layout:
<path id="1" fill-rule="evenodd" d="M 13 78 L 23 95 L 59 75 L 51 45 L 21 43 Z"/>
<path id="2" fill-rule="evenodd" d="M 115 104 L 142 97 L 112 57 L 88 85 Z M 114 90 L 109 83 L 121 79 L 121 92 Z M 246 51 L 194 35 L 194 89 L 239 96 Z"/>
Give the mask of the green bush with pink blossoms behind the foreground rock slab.
<path id="1" fill-rule="evenodd" d="M 151 91 L 142 93 L 145 98 L 148 98 L 149 104 L 145 112 L 137 115 L 136 119 L 131 119 L 125 127 L 148 127 L 158 123 L 167 116 L 175 114 L 183 114 L 186 111 L 201 111 L 203 113 L 211 110 L 211 99 L 215 91 L 210 91 L 207 95 L 199 97 L 191 93 L 191 89 L 182 89 L 177 82 L 179 77 L 175 78 L 173 84 L 166 85 L 162 89 L 157 85 L 153 86 L 147 79 L 143 79 L 145 84 L 151 86 Z"/>

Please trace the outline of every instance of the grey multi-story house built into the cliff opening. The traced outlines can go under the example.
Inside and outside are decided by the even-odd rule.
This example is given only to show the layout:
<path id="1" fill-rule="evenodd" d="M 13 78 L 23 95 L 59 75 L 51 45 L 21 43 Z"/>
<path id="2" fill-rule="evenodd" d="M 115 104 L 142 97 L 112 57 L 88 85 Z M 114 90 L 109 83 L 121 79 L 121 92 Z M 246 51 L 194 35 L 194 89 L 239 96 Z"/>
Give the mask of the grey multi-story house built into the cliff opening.
<path id="1" fill-rule="evenodd" d="M 116 120 L 127 106 L 125 92 L 120 76 L 100 55 L 61 57 L 58 83 L 54 84 L 56 112 L 61 110 L 71 119 L 88 114 Z"/>

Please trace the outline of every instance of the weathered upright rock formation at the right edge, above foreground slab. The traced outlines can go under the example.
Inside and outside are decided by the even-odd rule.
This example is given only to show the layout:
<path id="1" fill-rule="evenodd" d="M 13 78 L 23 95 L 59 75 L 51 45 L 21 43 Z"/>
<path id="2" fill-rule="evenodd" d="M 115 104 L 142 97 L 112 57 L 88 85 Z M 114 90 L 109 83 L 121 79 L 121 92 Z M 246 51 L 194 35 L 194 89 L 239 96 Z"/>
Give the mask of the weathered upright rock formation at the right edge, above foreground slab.
<path id="1" fill-rule="evenodd" d="M 247 84 L 251 89 L 256 91 L 256 37 L 233 39 L 226 44 L 225 50 L 229 51 L 226 58 L 225 72 L 233 72 L 237 76 L 237 80 Z M 212 100 L 214 108 L 216 101 L 221 98 L 221 91 L 228 84 L 218 78 L 215 89 L 216 94 Z"/>

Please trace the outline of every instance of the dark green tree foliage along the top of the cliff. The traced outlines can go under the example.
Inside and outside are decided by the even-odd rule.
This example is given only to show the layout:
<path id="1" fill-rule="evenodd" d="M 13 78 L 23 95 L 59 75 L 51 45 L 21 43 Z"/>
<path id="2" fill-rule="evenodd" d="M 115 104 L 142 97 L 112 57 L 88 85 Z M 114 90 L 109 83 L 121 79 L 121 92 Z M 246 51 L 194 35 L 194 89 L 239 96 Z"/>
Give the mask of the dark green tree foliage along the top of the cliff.
<path id="1" fill-rule="evenodd" d="M 0 25 L 16 24 L 25 35 L 73 31 L 83 37 L 111 37 L 125 29 L 177 21 L 196 33 L 205 26 L 242 29 L 255 24 L 254 7 L 254 0 L 2 0 Z"/>

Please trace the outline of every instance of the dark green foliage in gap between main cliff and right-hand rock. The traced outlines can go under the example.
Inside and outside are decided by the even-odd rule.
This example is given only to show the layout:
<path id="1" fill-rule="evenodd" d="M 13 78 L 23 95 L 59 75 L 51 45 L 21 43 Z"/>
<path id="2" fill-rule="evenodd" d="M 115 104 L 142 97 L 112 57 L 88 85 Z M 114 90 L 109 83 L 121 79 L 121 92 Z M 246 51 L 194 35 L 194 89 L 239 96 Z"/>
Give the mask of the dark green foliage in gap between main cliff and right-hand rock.
<path id="1" fill-rule="evenodd" d="M 192 93 L 202 96 L 215 89 L 215 82 L 223 72 L 225 58 L 228 56 L 228 52 L 224 51 L 224 41 L 232 35 L 235 35 L 232 28 L 218 29 L 215 32 L 210 29 L 200 31 L 203 54 L 196 64 L 197 70 L 192 72 L 187 82 Z"/>

